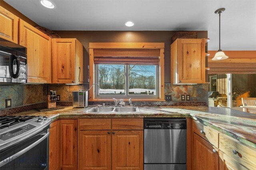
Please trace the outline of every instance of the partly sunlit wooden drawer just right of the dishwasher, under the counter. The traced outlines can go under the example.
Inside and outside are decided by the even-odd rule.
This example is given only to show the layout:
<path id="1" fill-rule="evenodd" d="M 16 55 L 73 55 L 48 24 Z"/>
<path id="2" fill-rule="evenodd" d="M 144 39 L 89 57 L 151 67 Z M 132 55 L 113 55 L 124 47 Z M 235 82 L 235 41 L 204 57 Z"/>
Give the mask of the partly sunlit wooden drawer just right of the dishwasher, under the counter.
<path id="1" fill-rule="evenodd" d="M 204 138 L 215 147 L 218 147 L 218 131 L 204 126 L 202 123 L 197 121 L 193 121 L 192 127 L 194 133 L 198 134 L 200 137 Z"/>

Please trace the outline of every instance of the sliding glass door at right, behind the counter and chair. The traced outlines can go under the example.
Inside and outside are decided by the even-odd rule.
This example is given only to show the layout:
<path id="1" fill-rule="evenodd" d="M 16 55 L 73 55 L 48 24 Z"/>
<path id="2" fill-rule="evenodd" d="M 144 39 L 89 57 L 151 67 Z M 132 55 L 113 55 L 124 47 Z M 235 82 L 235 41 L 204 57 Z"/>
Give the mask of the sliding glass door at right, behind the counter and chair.
<path id="1" fill-rule="evenodd" d="M 213 77 L 215 77 L 213 79 Z M 256 74 L 209 74 L 215 80 L 216 98 L 209 98 L 209 106 L 225 106 L 242 111 L 242 98 L 256 97 Z M 210 91 L 214 91 L 209 86 Z"/>

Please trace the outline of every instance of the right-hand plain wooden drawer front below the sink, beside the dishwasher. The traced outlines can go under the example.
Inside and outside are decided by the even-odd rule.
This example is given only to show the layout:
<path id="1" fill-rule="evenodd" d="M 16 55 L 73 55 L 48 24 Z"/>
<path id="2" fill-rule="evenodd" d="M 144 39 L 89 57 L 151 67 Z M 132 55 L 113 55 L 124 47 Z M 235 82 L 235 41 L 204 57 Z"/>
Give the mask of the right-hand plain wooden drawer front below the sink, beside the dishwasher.
<path id="1" fill-rule="evenodd" d="M 143 130 L 143 118 L 112 119 L 112 130 Z"/>

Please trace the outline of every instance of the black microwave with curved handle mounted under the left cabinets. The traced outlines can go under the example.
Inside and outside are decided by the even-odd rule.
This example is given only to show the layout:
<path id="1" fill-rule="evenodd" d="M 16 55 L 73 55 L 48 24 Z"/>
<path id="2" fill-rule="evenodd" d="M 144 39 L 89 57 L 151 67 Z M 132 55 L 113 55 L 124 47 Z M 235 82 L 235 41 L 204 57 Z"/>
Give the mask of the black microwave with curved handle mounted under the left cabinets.
<path id="1" fill-rule="evenodd" d="M 0 38 L 0 83 L 27 82 L 27 49 Z"/>

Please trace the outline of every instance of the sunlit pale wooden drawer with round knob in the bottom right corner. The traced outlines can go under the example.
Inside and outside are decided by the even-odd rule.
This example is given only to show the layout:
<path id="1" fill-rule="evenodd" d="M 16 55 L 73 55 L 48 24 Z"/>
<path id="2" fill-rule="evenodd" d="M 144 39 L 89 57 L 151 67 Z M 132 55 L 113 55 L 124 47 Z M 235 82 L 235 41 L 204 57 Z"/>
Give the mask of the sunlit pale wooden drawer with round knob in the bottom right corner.
<path id="1" fill-rule="evenodd" d="M 256 169 L 256 149 L 248 147 L 222 133 L 220 133 L 219 140 L 219 147 L 222 152 L 246 168 Z"/>

